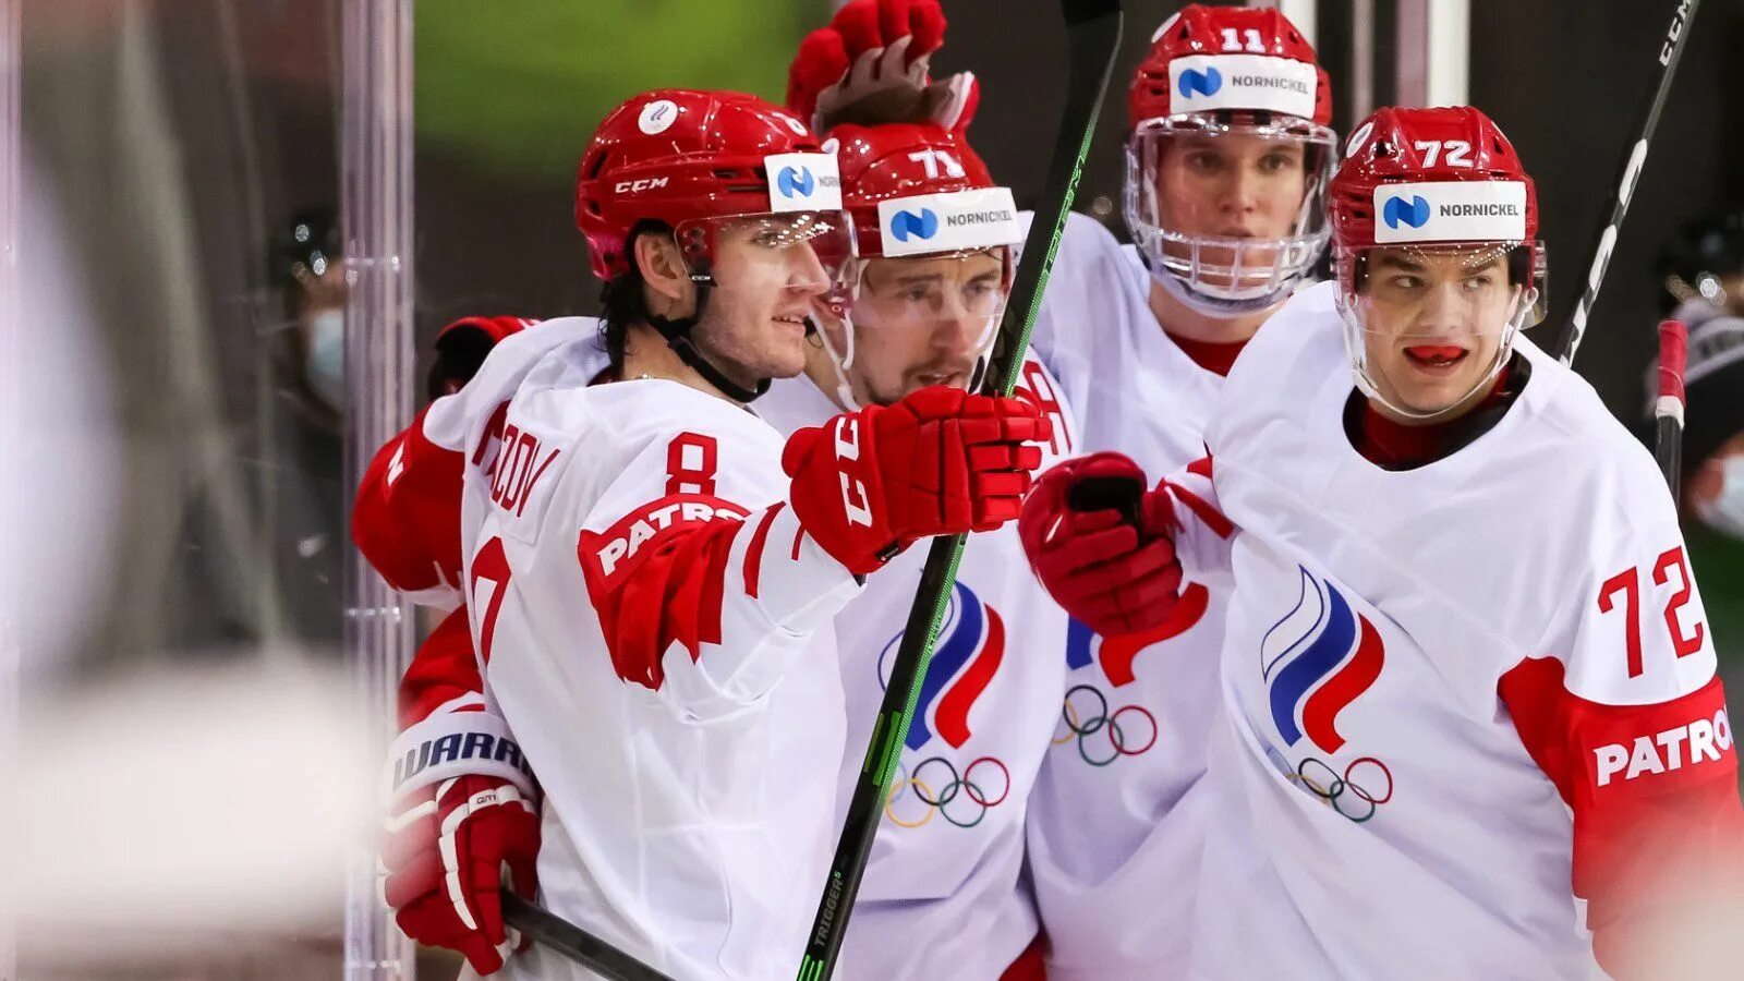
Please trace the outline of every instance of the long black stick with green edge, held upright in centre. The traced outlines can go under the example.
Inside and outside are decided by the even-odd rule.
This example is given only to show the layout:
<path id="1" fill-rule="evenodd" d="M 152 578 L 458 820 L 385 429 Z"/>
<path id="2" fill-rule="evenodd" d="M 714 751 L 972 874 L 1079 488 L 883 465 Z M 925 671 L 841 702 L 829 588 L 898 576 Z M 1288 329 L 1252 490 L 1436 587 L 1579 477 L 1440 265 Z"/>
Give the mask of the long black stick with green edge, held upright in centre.
<path id="1" fill-rule="evenodd" d="M 1066 108 L 1060 113 L 1060 129 L 1048 161 L 1041 201 L 1036 204 L 1029 236 L 1024 239 L 1024 257 L 1017 265 L 1012 298 L 999 321 L 999 333 L 994 337 L 987 365 L 985 389 L 998 394 L 1012 394 L 1024 365 L 1029 330 L 1041 307 L 1041 290 L 1048 283 L 1053 253 L 1060 246 L 1066 215 L 1078 192 L 1085 155 L 1090 152 L 1097 110 L 1107 91 L 1114 52 L 1120 49 L 1120 0 L 1060 0 L 1060 12 L 1066 17 L 1069 45 Z M 884 686 L 884 703 L 879 705 L 872 742 L 867 745 L 860 777 L 855 780 L 855 794 L 842 822 L 842 836 L 835 843 L 830 875 L 823 883 L 823 895 L 818 899 L 818 913 L 806 941 L 806 957 L 799 965 L 799 981 L 827 981 L 835 971 L 835 957 L 842 948 L 842 934 L 848 930 L 848 915 L 853 911 L 855 895 L 860 892 L 860 876 L 872 854 L 872 838 L 884 815 L 889 779 L 896 770 L 903 735 L 914 719 L 914 705 L 921 693 L 921 679 L 926 677 L 926 665 L 933 656 L 933 642 L 938 639 L 945 599 L 957 578 L 963 543 L 964 536 L 961 534 L 937 538 L 926 553 L 921 587 L 909 609 L 902 646 L 896 649 L 889 683 Z"/>

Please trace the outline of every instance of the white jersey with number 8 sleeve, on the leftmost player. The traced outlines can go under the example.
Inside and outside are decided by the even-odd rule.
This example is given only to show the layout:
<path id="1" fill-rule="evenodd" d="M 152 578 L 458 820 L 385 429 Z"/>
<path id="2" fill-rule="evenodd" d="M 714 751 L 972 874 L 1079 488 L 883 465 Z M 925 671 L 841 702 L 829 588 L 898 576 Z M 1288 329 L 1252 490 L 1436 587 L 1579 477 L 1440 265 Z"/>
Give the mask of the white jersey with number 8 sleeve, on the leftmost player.
<path id="1" fill-rule="evenodd" d="M 834 845 L 828 623 L 860 587 L 785 506 L 766 422 L 596 368 L 591 339 L 553 349 L 466 440 L 466 600 L 546 792 L 541 902 L 680 981 L 783 976 Z M 586 976 L 539 948 L 504 971 Z"/>

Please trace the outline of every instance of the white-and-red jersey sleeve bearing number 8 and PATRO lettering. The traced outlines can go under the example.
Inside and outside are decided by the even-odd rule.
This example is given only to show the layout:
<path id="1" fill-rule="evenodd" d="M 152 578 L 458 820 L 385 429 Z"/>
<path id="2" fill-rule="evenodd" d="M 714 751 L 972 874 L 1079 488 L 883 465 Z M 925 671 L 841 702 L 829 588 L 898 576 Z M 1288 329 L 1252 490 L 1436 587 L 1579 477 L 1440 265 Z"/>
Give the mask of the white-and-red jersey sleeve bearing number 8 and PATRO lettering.
<path id="1" fill-rule="evenodd" d="M 582 522 L 577 555 L 617 676 L 684 719 L 762 702 L 860 592 L 785 487 L 769 449 L 680 431 L 651 442 Z"/>

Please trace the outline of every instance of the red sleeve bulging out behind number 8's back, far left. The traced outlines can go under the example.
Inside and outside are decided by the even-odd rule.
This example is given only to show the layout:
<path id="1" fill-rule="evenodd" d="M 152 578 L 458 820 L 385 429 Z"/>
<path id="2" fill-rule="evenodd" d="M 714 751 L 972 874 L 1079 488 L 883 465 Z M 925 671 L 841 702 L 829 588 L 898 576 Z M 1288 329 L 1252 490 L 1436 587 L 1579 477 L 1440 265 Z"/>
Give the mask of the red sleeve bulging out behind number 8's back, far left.
<path id="1" fill-rule="evenodd" d="M 426 407 L 412 426 L 377 450 L 351 513 L 352 541 L 387 585 L 413 602 L 439 609 L 460 604 L 466 456 L 445 445 L 438 426 L 453 398 Z"/>

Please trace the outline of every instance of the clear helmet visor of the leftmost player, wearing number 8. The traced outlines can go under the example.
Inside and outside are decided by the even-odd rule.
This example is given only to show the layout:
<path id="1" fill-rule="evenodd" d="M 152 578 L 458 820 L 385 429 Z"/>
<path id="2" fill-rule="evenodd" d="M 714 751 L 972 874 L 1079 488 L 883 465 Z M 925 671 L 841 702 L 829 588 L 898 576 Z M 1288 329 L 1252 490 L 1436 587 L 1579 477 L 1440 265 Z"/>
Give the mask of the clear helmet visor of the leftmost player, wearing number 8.
<path id="1" fill-rule="evenodd" d="M 844 305 L 853 293 L 853 222 L 846 211 L 698 218 L 673 229 L 691 279 L 719 290 L 792 290 Z"/>

